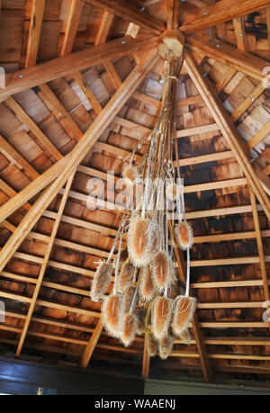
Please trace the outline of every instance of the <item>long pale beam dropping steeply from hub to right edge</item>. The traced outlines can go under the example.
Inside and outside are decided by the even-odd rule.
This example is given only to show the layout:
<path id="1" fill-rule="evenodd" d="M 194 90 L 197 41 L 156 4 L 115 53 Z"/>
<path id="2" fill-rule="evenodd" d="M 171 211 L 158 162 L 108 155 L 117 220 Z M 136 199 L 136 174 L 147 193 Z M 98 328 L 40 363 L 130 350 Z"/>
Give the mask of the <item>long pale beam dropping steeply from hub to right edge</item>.
<path id="1" fill-rule="evenodd" d="M 194 85 L 202 94 L 202 98 L 211 112 L 213 119 L 220 127 L 220 131 L 224 136 L 229 149 L 236 157 L 243 174 L 247 176 L 248 183 L 266 212 L 266 217 L 270 220 L 270 202 L 268 195 L 263 189 L 260 180 L 257 178 L 253 166 L 250 164 L 250 156 L 247 152 L 247 148 L 244 145 L 243 139 L 239 136 L 233 122 L 230 120 L 228 112 L 224 109 L 218 96 L 214 94 L 210 82 L 202 77 L 190 53 L 185 54 L 184 66 L 191 76 Z"/>

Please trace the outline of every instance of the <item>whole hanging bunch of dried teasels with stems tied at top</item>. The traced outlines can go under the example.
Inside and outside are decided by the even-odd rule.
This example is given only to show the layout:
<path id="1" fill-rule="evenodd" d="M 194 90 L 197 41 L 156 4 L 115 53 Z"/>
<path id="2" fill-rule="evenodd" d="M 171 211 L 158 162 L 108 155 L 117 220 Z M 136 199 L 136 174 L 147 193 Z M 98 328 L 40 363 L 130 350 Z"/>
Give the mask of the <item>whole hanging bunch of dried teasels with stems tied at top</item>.
<path id="1" fill-rule="evenodd" d="M 189 296 L 193 229 L 185 219 L 175 125 L 181 66 L 180 59 L 167 65 L 157 124 L 139 141 L 122 171 L 130 191 L 136 187 L 137 198 L 123 213 L 110 255 L 97 267 L 90 292 L 93 301 L 103 301 L 103 326 L 110 336 L 130 346 L 136 335 L 144 334 L 148 354 L 162 359 L 170 355 L 175 337 L 188 342 L 188 326 L 196 309 L 196 300 Z M 136 150 L 145 139 L 148 148 L 135 166 Z M 177 283 L 175 248 L 186 251 L 185 294 Z M 112 294 L 105 295 L 113 274 Z"/>

